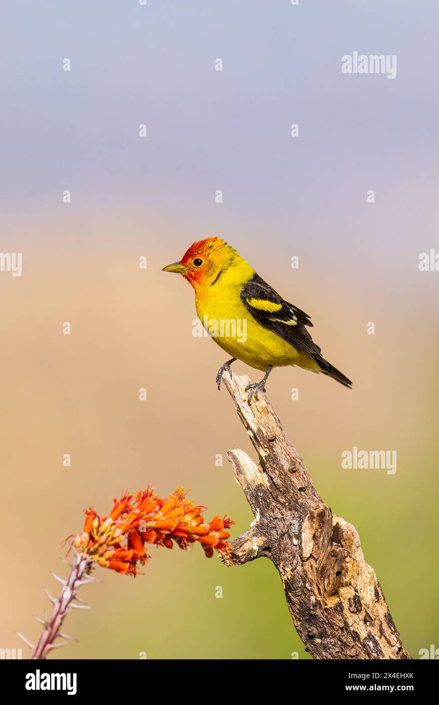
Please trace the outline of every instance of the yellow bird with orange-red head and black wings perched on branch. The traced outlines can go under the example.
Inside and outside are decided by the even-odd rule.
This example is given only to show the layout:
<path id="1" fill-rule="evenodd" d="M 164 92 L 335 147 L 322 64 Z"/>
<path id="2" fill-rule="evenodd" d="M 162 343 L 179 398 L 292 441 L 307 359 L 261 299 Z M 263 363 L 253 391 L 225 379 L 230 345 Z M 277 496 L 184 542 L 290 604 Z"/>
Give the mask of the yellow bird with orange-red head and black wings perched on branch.
<path id="1" fill-rule="evenodd" d="M 232 376 L 230 364 L 236 360 L 265 372 L 260 382 L 245 388 L 248 403 L 266 391 L 273 367 L 285 365 L 321 372 L 352 387 L 350 379 L 321 355 L 307 330 L 314 325 L 309 315 L 285 301 L 222 238 L 197 240 L 179 262 L 162 271 L 181 274 L 192 285 L 204 328 L 232 356 L 218 369 L 218 389 L 224 372 Z"/>

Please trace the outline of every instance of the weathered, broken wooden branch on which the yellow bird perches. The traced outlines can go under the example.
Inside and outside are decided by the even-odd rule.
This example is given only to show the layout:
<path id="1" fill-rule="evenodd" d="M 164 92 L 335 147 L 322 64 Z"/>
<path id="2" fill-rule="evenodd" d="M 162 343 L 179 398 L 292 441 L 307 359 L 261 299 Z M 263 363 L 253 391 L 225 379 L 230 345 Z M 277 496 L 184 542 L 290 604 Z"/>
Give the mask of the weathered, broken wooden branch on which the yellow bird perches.
<path id="1" fill-rule="evenodd" d="M 254 514 L 232 541 L 233 564 L 273 561 L 314 658 L 411 658 L 356 529 L 323 502 L 266 395 L 248 403 L 247 376 L 225 372 L 223 381 L 259 456 L 258 466 L 243 450 L 228 452 Z"/>

